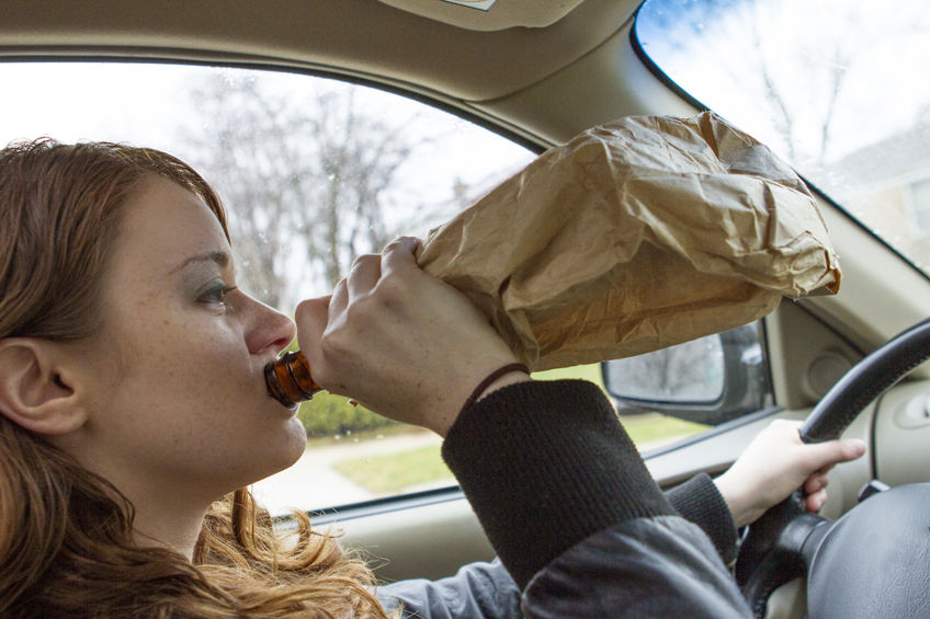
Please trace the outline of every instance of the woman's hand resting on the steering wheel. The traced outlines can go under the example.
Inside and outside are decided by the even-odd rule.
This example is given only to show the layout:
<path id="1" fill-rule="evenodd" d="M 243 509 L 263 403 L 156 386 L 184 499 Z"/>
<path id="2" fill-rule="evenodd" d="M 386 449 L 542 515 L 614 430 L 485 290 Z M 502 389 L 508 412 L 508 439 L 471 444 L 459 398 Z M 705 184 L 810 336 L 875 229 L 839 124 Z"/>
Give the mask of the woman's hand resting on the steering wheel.
<path id="1" fill-rule="evenodd" d="M 802 486 L 807 511 L 818 511 L 827 501 L 827 472 L 833 465 L 865 452 L 865 444 L 858 438 L 804 444 L 798 434 L 801 425 L 786 420 L 772 422 L 714 480 L 737 527 L 755 521 Z"/>

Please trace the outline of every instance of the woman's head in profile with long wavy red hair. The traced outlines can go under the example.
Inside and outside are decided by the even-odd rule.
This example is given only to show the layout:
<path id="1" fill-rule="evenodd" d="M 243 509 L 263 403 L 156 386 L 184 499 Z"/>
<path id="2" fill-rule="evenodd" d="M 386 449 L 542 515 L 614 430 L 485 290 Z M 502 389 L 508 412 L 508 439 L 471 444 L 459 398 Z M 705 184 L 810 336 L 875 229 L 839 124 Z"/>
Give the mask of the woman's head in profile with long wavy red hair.
<path id="1" fill-rule="evenodd" d="M 306 521 L 287 552 L 245 492 L 213 505 L 306 438 L 261 378 L 294 325 L 235 289 L 206 183 L 38 142 L 0 154 L 0 616 L 384 617 Z"/>

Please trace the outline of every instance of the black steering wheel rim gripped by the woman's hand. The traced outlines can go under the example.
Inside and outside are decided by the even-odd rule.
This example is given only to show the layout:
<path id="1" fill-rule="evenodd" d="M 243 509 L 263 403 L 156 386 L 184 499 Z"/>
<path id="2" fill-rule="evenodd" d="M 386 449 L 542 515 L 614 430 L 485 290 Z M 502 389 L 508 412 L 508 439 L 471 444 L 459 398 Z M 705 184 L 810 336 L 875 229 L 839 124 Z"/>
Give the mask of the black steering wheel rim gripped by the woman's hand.
<path id="1" fill-rule="evenodd" d="M 862 410 L 930 358 L 930 318 L 894 336 L 853 366 L 810 411 L 801 427 L 804 443 L 838 438 Z M 807 514 L 801 491 L 765 512 L 744 537 L 736 578 L 757 618 L 782 584 L 807 573 L 830 521 Z"/>

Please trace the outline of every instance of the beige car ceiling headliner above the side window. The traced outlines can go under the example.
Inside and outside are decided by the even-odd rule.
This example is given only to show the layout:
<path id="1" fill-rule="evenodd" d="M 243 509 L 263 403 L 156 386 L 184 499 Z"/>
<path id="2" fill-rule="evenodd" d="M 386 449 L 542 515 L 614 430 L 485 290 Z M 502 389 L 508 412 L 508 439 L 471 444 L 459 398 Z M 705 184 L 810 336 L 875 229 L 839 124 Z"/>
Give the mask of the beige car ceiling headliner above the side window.
<path id="1" fill-rule="evenodd" d="M 33 0 L 0 5 L 0 54 L 336 69 L 475 102 L 518 92 L 572 64 L 617 32 L 637 4 L 587 0 L 547 27 L 476 32 L 379 0 Z M 512 5 L 501 0 L 501 9 Z"/>

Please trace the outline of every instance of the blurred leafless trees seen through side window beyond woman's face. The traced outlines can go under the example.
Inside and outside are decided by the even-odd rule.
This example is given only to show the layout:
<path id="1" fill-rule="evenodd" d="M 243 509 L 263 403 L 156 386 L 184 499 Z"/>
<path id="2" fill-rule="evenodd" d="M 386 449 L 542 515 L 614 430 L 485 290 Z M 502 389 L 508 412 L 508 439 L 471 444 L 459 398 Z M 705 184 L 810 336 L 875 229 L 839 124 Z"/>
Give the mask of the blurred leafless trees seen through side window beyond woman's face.
<path id="1" fill-rule="evenodd" d="M 415 117 L 361 104 L 351 85 L 320 80 L 295 98 L 246 76 L 194 88 L 199 128 L 185 141 L 229 207 L 242 285 L 290 307 L 295 282 L 331 289 L 359 254 L 396 236 L 406 221 L 387 216 L 384 196 L 428 138 Z"/>

